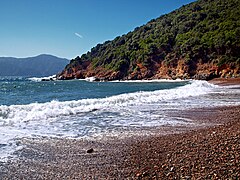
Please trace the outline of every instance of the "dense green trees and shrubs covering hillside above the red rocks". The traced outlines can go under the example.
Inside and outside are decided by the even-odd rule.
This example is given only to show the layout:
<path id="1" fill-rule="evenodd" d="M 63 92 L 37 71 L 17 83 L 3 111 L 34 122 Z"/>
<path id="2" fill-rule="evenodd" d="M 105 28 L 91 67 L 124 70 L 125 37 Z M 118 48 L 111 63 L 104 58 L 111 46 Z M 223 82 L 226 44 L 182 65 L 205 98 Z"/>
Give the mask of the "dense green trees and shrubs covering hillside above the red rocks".
<path id="1" fill-rule="evenodd" d="M 176 66 L 178 60 L 189 66 L 189 75 L 197 63 L 240 64 L 240 1 L 199 0 L 167 15 L 153 19 L 126 35 L 92 48 L 71 61 L 66 70 L 90 61 L 91 69 L 121 72 L 121 78 L 154 64 Z M 171 73 L 171 72 L 169 72 Z"/>

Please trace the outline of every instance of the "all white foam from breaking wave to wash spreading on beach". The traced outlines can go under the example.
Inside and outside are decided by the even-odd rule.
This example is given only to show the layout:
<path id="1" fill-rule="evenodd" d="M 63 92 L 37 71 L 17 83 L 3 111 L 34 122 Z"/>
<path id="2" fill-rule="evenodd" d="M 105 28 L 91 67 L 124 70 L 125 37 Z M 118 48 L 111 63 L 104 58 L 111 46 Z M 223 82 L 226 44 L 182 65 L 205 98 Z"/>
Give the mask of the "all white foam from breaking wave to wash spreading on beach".
<path id="1" fill-rule="evenodd" d="M 0 148 L 0 157 L 6 157 L 6 152 L 11 153 L 16 149 L 12 145 L 15 138 L 97 136 L 115 131 L 116 128 L 186 123 L 168 117 L 164 109 L 213 105 L 211 101 L 199 101 L 198 98 L 217 89 L 218 86 L 206 81 L 191 81 L 175 89 L 135 92 L 99 99 L 2 105 L 0 144 L 6 146 Z M 216 101 L 215 104 L 219 103 Z"/>

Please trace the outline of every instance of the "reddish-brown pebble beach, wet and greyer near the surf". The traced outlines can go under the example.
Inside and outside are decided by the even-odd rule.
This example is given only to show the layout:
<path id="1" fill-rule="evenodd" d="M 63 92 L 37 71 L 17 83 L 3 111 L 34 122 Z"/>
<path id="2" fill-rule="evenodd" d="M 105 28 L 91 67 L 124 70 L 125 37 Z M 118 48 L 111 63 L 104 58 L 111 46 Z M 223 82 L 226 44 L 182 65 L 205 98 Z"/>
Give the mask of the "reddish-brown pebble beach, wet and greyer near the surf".
<path id="1" fill-rule="evenodd" d="M 239 178 L 240 106 L 176 113 L 202 125 L 109 141 L 23 139 L 19 159 L 0 163 L 0 179 Z"/>

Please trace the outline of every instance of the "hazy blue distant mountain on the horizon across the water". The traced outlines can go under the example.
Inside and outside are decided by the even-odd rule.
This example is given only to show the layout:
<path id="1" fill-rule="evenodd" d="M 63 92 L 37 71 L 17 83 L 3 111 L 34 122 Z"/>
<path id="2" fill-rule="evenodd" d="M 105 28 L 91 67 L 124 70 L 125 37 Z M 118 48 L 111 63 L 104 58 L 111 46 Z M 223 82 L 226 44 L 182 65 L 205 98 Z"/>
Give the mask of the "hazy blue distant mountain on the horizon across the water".
<path id="1" fill-rule="evenodd" d="M 50 76 L 59 73 L 69 60 L 42 54 L 36 57 L 0 57 L 0 76 Z"/>

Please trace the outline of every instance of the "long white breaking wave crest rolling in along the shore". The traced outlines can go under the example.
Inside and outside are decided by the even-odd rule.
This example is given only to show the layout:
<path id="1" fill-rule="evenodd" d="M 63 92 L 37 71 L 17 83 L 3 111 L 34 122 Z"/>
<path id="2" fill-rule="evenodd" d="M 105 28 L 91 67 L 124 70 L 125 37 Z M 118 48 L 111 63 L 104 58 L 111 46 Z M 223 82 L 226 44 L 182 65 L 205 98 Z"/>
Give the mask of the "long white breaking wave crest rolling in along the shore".
<path id="1" fill-rule="evenodd" d="M 205 81 L 192 81 L 183 87 L 157 90 L 152 92 L 135 92 L 99 99 L 82 99 L 78 101 L 51 101 L 28 105 L 0 106 L 0 123 L 7 125 L 14 122 L 47 120 L 61 116 L 77 115 L 101 109 L 141 106 L 171 102 L 190 96 L 208 93 L 215 86 Z"/>

